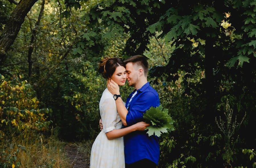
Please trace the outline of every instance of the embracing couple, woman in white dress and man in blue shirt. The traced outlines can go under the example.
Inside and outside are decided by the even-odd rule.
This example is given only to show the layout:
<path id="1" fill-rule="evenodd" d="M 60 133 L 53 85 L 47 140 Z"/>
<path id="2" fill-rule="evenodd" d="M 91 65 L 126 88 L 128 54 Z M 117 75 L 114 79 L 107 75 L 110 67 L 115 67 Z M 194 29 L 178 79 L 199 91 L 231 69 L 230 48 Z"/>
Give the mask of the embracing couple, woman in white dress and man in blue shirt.
<path id="1" fill-rule="evenodd" d="M 146 133 L 149 124 L 143 122 L 143 113 L 160 102 L 147 81 L 146 57 L 106 58 L 99 71 L 108 82 L 99 103 L 102 130 L 92 145 L 90 168 L 156 168 L 159 138 Z M 119 86 L 125 85 L 126 79 L 135 90 L 124 103 Z"/>

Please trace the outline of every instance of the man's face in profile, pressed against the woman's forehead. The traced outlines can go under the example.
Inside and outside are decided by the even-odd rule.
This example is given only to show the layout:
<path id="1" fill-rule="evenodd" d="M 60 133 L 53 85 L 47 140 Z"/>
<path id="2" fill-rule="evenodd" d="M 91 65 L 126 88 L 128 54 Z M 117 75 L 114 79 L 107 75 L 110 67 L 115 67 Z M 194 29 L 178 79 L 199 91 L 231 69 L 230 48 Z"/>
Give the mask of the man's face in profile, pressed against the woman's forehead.
<path id="1" fill-rule="evenodd" d="M 136 65 L 133 65 L 133 63 L 127 63 L 125 66 L 126 66 L 128 85 L 135 87 L 135 84 L 139 78 L 139 74 L 138 74 L 139 71 L 135 69 Z"/>

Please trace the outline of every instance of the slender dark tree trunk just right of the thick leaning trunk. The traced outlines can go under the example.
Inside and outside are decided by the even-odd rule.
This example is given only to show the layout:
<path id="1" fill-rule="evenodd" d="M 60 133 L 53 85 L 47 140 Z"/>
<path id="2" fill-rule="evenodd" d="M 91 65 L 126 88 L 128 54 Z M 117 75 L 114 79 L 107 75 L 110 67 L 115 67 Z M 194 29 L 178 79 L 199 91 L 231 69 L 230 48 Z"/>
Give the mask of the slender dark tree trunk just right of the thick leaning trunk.
<path id="1" fill-rule="evenodd" d="M 30 45 L 29 45 L 29 48 L 28 48 L 28 76 L 29 77 L 31 77 L 31 74 L 32 74 L 32 52 L 33 52 L 33 49 L 34 49 L 34 41 L 35 41 L 36 36 L 38 34 L 38 26 L 40 24 L 40 21 L 41 21 L 41 18 L 43 16 L 43 14 L 44 14 L 44 3 L 45 3 L 45 0 L 42 1 L 42 6 L 41 6 L 41 9 L 40 9 L 40 13 L 39 13 L 35 28 L 31 32 L 32 36 L 31 36 Z"/>

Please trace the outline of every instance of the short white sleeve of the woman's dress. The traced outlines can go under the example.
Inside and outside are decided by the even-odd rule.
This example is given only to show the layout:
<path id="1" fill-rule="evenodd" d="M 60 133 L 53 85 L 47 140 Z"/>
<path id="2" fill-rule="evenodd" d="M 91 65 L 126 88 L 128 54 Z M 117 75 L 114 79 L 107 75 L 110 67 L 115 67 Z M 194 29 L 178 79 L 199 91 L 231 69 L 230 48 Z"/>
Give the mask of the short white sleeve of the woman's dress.
<path id="1" fill-rule="evenodd" d="M 105 99 L 102 103 L 102 124 L 105 133 L 115 129 L 117 108 L 114 99 Z"/>

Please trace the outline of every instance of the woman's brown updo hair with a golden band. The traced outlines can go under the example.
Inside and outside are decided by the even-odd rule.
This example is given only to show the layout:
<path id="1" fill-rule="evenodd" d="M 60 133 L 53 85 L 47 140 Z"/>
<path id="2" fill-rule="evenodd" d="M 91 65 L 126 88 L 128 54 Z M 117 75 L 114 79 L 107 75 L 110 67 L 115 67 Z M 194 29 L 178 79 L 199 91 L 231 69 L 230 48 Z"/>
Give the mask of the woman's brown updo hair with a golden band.
<path id="1" fill-rule="evenodd" d="M 121 58 L 112 57 L 112 58 L 104 58 L 100 61 L 99 64 L 99 72 L 102 74 L 103 78 L 111 78 L 115 69 L 119 66 L 125 67 L 125 63 Z"/>

